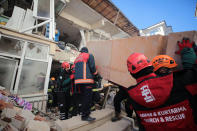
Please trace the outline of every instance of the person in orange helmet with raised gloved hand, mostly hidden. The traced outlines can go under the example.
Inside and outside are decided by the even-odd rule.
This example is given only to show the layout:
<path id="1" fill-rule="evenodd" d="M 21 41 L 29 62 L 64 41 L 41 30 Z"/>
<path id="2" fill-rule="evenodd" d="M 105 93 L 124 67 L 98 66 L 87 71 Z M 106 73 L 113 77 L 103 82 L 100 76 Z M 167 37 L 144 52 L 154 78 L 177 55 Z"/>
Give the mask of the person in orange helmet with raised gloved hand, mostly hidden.
<path id="1" fill-rule="evenodd" d="M 183 38 L 182 42 L 178 41 L 177 43 L 179 49 L 181 50 L 176 51 L 176 54 L 181 55 L 183 69 L 191 68 L 193 64 L 197 64 L 195 43 L 191 43 L 188 38 Z M 158 55 L 154 57 L 152 64 L 154 67 L 154 72 L 159 76 L 172 73 L 177 67 L 175 60 L 168 55 Z M 197 83 L 187 85 L 185 88 L 195 97 L 195 101 L 197 101 Z"/>

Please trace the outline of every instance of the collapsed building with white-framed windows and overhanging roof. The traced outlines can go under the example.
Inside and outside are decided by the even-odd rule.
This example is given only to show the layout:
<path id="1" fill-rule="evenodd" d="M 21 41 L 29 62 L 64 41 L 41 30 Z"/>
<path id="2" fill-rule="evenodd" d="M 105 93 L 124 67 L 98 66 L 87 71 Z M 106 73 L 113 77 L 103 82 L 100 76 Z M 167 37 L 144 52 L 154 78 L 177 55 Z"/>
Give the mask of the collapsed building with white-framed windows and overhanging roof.
<path id="1" fill-rule="evenodd" d="M 50 72 L 60 62 L 73 62 L 87 41 L 138 35 L 138 29 L 110 1 L 14 0 L 1 5 L 5 10 L 1 20 L 6 23 L 1 25 L 1 86 L 39 102 L 35 104 L 39 108 L 46 105 Z M 52 28 L 48 36 L 47 23 Z M 55 29 L 63 49 L 53 41 Z"/>

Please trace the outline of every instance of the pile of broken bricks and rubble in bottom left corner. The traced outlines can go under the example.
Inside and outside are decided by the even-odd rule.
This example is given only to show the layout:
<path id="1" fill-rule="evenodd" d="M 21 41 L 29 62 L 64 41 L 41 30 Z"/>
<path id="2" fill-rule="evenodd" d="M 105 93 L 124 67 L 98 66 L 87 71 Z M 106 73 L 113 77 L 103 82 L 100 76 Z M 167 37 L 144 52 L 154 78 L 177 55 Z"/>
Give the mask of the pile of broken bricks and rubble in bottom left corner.
<path id="1" fill-rule="evenodd" d="M 16 99 L 17 98 L 17 99 Z M 0 130 L 50 131 L 54 121 L 42 114 L 32 113 L 32 105 L 21 98 L 0 90 Z"/>

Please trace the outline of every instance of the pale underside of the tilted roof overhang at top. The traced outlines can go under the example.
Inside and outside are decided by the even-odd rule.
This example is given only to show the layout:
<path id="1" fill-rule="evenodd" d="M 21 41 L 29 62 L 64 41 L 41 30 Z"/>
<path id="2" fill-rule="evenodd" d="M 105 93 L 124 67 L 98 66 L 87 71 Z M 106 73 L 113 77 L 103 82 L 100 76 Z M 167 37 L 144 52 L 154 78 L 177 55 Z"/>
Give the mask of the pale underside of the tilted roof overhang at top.
<path id="1" fill-rule="evenodd" d="M 100 30 L 104 33 L 99 35 L 102 35 L 107 39 L 136 35 L 136 32 L 130 35 L 123 31 L 123 29 L 119 28 L 117 24 L 114 24 L 110 20 L 106 19 L 106 17 L 104 17 L 101 13 L 89 7 L 82 0 L 70 0 L 61 12 L 60 16 L 71 21 L 73 25 L 79 28 L 79 30 L 94 31 L 96 33 Z M 122 19 L 118 17 L 117 22 L 120 20 L 122 21 Z"/>

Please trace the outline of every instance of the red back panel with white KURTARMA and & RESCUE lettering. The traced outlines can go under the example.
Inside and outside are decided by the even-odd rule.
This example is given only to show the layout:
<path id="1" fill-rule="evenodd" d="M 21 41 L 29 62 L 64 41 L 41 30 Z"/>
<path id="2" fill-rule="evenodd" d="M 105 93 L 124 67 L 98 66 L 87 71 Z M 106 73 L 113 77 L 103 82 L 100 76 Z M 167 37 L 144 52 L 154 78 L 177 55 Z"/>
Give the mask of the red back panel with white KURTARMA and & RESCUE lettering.
<path id="1" fill-rule="evenodd" d="M 142 125 L 147 130 L 159 129 L 161 127 L 168 129 L 177 128 L 179 130 L 183 127 L 196 128 L 193 121 L 193 112 L 188 100 L 155 110 L 137 111 L 137 114 L 141 119 Z"/>

